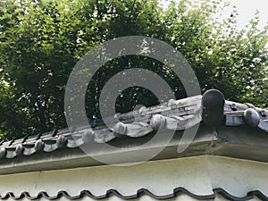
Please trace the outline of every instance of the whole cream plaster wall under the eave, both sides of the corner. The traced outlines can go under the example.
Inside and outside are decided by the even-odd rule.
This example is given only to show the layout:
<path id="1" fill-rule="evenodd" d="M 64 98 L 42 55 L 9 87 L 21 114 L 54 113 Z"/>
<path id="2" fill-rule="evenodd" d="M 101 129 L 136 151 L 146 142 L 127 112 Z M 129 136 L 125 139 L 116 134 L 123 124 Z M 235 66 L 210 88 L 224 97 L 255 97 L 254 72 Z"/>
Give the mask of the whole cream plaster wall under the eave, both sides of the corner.
<path id="1" fill-rule="evenodd" d="M 114 188 L 124 196 L 147 188 L 156 195 L 171 194 L 173 188 L 183 187 L 204 196 L 213 194 L 213 188 L 224 188 L 230 194 L 244 197 L 248 191 L 259 189 L 268 196 L 268 163 L 257 163 L 218 156 L 197 156 L 140 163 L 134 166 L 97 166 L 62 171 L 29 172 L 0 176 L 0 193 L 13 192 L 19 196 L 27 191 L 36 196 L 46 191 L 54 196 L 65 190 L 71 196 L 87 189 L 93 195 L 104 195 Z M 11 199 L 9 199 L 11 200 Z M 27 200 L 27 199 L 22 199 Z M 40 199 L 46 200 L 46 199 Z M 66 200 L 61 198 L 59 200 Z M 80 200 L 92 200 L 85 197 Z M 110 197 L 105 201 L 121 200 Z M 154 200 L 143 196 L 136 200 Z M 171 200 L 196 200 L 180 195 Z M 214 200 L 225 200 L 217 195 Z M 257 199 L 255 199 L 257 200 Z"/>

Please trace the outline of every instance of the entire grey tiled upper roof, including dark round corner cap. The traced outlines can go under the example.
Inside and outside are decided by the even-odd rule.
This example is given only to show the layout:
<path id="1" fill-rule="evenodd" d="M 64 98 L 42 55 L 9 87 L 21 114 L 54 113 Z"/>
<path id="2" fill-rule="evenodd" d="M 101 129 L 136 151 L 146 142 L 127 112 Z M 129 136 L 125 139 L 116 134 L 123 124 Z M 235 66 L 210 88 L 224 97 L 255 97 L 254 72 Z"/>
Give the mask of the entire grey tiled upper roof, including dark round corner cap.
<path id="1" fill-rule="evenodd" d="M 226 101 L 221 92 L 209 90 L 203 96 L 170 100 L 163 105 L 142 107 L 138 111 L 117 114 L 114 116 L 113 129 L 93 121 L 92 129 L 80 128 L 74 132 L 67 129 L 54 130 L 4 141 L 0 144 L 0 159 L 40 152 L 49 153 L 61 148 L 80 147 L 87 143 L 105 143 L 122 136 L 139 138 L 154 130 L 185 130 L 199 122 L 211 127 L 247 125 L 268 132 L 268 111 L 250 104 Z"/>

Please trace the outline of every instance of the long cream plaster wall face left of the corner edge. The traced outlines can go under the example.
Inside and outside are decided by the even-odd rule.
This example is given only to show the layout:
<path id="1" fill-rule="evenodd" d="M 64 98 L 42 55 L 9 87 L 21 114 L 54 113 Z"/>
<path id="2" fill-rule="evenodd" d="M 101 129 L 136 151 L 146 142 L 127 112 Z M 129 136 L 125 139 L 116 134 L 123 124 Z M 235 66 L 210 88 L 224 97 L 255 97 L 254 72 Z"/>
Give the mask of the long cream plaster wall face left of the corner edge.
<path id="1" fill-rule="evenodd" d="M 200 180 L 203 183 L 201 187 Z M 1 194 L 13 192 L 14 195 L 20 195 L 22 191 L 27 191 L 30 195 L 36 195 L 40 191 L 56 195 L 60 190 L 78 195 L 81 190 L 88 189 L 99 196 L 110 188 L 117 189 L 126 196 L 136 194 L 139 188 L 147 188 L 157 195 L 166 195 L 177 187 L 187 188 L 195 194 L 212 194 L 206 160 L 187 158 L 134 166 L 98 166 L 0 176 Z"/>

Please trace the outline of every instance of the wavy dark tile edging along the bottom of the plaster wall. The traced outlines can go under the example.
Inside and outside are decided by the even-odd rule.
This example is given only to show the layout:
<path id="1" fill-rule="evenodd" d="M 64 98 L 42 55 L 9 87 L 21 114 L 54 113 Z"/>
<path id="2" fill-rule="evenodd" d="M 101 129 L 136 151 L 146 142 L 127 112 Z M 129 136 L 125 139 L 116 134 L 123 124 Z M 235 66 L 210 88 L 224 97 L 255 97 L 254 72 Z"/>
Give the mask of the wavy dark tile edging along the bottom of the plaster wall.
<path id="1" fill-rule="evenodd" d="M 30 200 L 37 200 L 37 199 L 40 199 L 40 198 L 46 198 L 48 200 L 54 200 L 54 199 L 58 199 L 58 198 L 61 198 L 61 197 L 65 197 L 65 198 L 70 199 L 70 200 L 75 200 L 75 199 L 80 199 L 80 198 L 83 198 L 83 197 L 90 197 L 90 198 L 93 198 L 93 199 L 96 199 L 96 200 L 101 200 L 101 199 L 105 199 L 107 197 L 116 196 L 116 197 L 119 197 L 119 198 L 124 199 L 124 200 L 130 200 L 130 199 L 135 199 L 135 198 L 147 195 L 149 197 L 153 197 L 153 198 L 158 199 L 158 200 L 165 200 L 165 199 L 171 199 L 173 197 L 177 197 L 177 196 L 179 196 L 181 194 L 185 194 L 185 195 L 188 195 L 189 197 L 193 197 L 193 198 L 196 198 L 196 199 L 199 199 L 199 200 L 214 199 L 216 197 L 216 194 L 219 194 L 219 195 L 221 195 L 222 197 L 224 197 L 224 198 L 226 198 L 228 200 L 236 200 L 236 201 L 246 201 L 246 200 L 253 199 L 254 197 L 258 197 L 261 200 L 268 200 L 268 197 L 266 197 L 259 190 L 250 191 L 250 192 L 247 193 L 247 196 L 245 196 L 245 197 L 235 197 L 235 196 L 231 195 L 230 193 L 228 193 L 223 188 L 214 188 L 214 194 L 200 196 L 200 195 L 196 195 L 196 194 L 193 194 L 193 193 L 189 192 L 186 188 L 181 188 L 181 187 L 180 188 L 174 188 L 172 194 L 163 195 L 163 196 L 155 195 L 154 193 L 152 193 L 147 188 L 140 188 L 140 189 L 138 189 L 136 194 L 130 195 L 130 196 L 121 195 L 121 193 L 118 192 L 116 189 L 109 189 L 109 190 L 106 191 L 105 195 L 101 195 L 101 196 L 95 196 L 88 190 L 80 191 L 80 195 L 71 196 L 68 192 L 66 192 L 64 190 L 61 190 L 61 191 L 59 191 L 57 193 L 57 195 L 54 195 L 54 196 L 48 195 L 45 191 L 39 192 L 37 196 L 31 196 L 31 195 L 29 195 L 29 192 L 22 192 L 20 196 L 15 196 L 13 194 L 13 192 L 8 192 L 4 196 L 0 195 L 0 199 L 7 199 L 7 198 L 22 199 L 22 198 L 28 198 Z"/>

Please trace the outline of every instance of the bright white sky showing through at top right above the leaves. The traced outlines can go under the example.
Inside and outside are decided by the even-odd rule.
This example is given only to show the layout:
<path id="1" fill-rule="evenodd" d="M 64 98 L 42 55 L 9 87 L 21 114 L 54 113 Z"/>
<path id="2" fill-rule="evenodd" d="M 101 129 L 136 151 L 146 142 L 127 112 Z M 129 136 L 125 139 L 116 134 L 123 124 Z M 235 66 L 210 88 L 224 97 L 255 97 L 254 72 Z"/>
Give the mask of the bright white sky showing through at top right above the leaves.
<path id="1" fill-rule="evenodd" d="M 179 2 L 180 0 L 174 0 Z M 170 0 L 160 0 L 164 7 L 169 4 Z M 198 1 L 197 1 L 198 2 Z M 247 22 L 253 18 L 255 10 L 260 13 L 260 28 L 263 28 L 268 21 L 268 1 L 267 0 L 223 0 L 223 2 L 230 2 L 231 5 L 236 5 L 239 13 L 238 28 L 245 28 Z M 230 16 L 231 11 L 226 10 L 222 13 L 222 17 Z"/>

